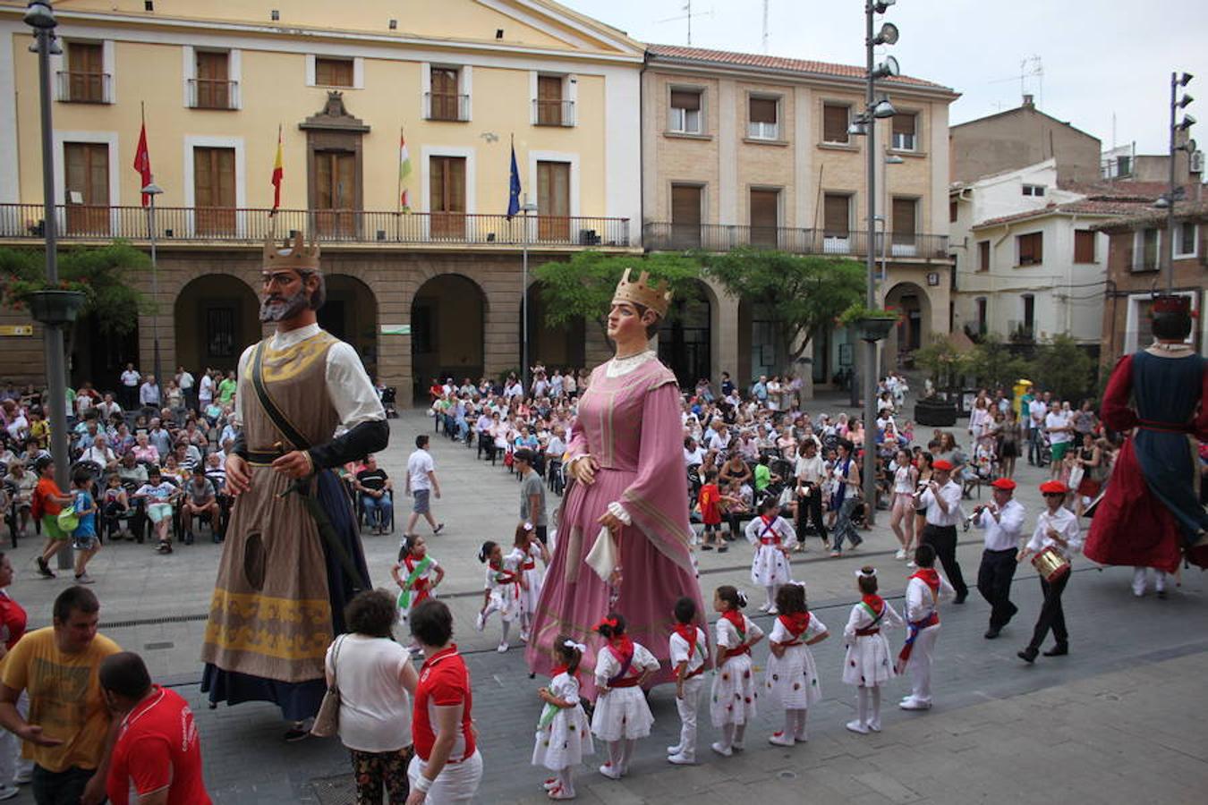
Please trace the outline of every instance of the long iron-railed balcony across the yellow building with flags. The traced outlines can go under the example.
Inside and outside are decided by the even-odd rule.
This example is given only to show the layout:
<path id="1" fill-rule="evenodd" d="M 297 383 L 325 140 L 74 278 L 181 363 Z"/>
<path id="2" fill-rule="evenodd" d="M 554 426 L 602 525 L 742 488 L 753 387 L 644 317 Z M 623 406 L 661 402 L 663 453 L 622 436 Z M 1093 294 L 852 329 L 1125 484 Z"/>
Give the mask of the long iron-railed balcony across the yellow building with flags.
<path id="1" fill-rule="evenodd" d="M 59 239 L 147 240 L 147 210 L 141 206 L 56 208 Z M 269 210 L 157 206 L 161 243 L 260 245 L 268 233 Z M 41 204 L 0 204 L 0 240 L 39 241 L 43 235 Z M 395 212 L 376 210 L 278 210 L 279 234 L 315 232 L 324 243 L 348 245 L 429 245 L 534 249 L 629 249 L 628 218 L 461 212 Z"/>

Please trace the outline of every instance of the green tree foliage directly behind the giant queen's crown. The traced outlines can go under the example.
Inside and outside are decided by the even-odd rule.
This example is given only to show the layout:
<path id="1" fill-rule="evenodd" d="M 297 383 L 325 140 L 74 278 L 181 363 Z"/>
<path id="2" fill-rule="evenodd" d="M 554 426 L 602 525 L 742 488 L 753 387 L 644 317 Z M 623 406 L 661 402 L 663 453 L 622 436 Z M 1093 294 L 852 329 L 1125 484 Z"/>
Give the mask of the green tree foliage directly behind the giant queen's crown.
<path id="1" fill-rule="evenodd" d="M 632 269 L 633 280 L 641 272 L 649 272 L 652 280 L 667 280 L 672 293 L 681 297 L 695 294 L 695 280 L 701 279 L 701 262 L 684 255 L 614 257 L 583 251 L 569 261 L 551 261 L 534 272 L 542 286 L 546 326 L 561 327 L 585 319 L 594 321 L 602 333 L 606 332 L 612 292 L 627 268 Z"/>

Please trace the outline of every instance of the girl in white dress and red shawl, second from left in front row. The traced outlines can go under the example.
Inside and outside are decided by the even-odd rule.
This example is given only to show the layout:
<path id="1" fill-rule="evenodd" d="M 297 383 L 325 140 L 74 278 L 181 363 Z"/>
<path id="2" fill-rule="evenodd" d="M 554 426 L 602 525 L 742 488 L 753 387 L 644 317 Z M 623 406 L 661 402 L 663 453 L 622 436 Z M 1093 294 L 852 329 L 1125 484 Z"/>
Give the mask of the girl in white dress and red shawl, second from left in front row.
<path id="1" fill-rule="evenodd" d="M 596 631 L 608 643 L 596 657 L 596 712 L 592 733 L 608 742 L 608 762 L 600 774 L 620 780 L 629 771 L 633 746 L 650 735 L 655 717 L 641 694 L 641 683 L 658 670 L 658 660 L 645 646 L 625 634 L 625 618 L 610 612 Z"/>

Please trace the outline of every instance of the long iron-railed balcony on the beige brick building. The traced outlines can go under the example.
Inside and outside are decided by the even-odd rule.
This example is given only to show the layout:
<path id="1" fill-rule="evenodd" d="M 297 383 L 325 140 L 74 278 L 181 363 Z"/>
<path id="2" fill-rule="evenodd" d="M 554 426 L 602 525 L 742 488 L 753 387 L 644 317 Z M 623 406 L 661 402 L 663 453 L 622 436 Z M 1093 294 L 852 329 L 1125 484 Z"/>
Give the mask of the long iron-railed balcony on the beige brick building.
<path id="1" fill-rule="evenodd" d="M 889 255 L 899 259 L 948 259 L 948 235 L 890 233 Z M 871 239 L 881 255 L 884 234 Z M 726 252 L 739 246 L 774 249 L 791 255 L 837 255 L 864 257 L 869 253 L 867 232 L 825 232 L 792 227 L 750 227 L 721 223 L 647 222 L 643 226 L 643 245 L 654 251 L 701 250 Z"/>

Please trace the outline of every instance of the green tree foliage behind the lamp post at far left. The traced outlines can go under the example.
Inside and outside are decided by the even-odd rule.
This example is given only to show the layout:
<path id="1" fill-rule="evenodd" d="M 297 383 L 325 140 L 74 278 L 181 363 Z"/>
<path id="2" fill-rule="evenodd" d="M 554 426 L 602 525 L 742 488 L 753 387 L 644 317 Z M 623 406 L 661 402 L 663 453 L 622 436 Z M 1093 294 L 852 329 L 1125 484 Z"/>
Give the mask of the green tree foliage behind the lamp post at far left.
<path id="1" fill-rule="evenodd" d="M 100 247 L 59 251 L 59 279 L 54 288 L 82 291 L 88 298 L 81 315 L 91 315 L 101 333 L 122 336 L 138 325 L 146 298 L 134 288 L 133 273 L 151 261 L 122 240 Z M 0 304 L 22 307 L 30 291 L 51 288 L 46 282 L 46 252 L 40 249 L 0 249 Z"/>

